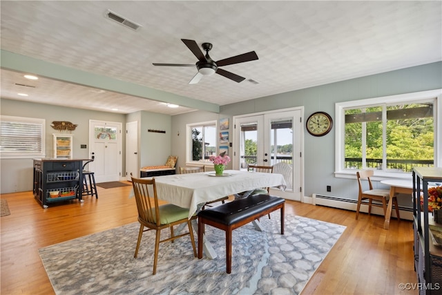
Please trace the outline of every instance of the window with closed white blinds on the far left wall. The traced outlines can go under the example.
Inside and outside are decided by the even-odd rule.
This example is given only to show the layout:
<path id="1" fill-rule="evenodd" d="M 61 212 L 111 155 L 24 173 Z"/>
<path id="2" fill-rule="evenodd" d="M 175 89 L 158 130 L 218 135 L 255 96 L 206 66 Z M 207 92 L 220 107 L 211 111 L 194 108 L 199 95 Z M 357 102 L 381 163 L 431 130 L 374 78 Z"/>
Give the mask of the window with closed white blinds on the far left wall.
<path id="1" fill-rule="evenodd" d="M 1 116 L 1 158 L 44 157 L 45 120 Z"/>

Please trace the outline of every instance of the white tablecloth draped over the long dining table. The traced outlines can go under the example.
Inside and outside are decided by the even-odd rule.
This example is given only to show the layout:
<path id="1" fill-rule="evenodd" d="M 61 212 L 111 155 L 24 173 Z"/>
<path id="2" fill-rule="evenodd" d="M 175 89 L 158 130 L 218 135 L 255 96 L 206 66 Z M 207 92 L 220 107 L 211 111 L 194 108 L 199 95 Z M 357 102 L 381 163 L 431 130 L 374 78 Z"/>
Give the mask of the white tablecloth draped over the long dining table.
<path id="1" fill-rule="evenodd" d="M 226 170 L 229 176 L 211 176 L 214 172 L 164 175 L 155 177 L 157 196 L 171 204 L 189 208 L 189 218 L 198 210 L 198 204 L 216 200 L 233 193 L 259 187 L 285 189 L 284 177 L 277 173 L 259 173 Z"/>

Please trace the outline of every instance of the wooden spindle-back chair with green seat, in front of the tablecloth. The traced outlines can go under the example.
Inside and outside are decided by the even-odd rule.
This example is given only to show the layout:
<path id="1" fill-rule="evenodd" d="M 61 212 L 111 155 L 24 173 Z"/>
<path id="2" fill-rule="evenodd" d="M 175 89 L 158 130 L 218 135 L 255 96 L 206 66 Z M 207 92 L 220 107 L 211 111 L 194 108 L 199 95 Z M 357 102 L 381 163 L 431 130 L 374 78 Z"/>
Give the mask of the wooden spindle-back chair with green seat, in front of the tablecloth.
<path id="1" fill-rule="evenodd" d="M 174 204 L 158 204 L 157 187 L 155 178 L 140 179 L 132 178 L 133 191 L 135 193 L 135 200 L 137 201 L 138 222 L 140 222 L 140 231 L 138 234 L 137 247 L 135 248 L 134 257 L 137 258 L 138 249 L 140 249 L 140 242 L 144 231 L 155 230 L 155 250 L 153 256 L 153 273 L 157 272 L 158 249 L 161 242 L 173 241 L 182 236 L 190 235 L 193 247 L 193 256 L 197 256 L 195 248 L 195 239 L 193 238 L 193 231 L 191 219 L 189 219 L 189 209 L 176 206 Z M 187 223 L 189 232 L 175 236 L 173 227 Z M 144 229 L 146 227 L 146 229 Z M 162 229 L 170 229 L 170 238 L 161 240 Z"/>

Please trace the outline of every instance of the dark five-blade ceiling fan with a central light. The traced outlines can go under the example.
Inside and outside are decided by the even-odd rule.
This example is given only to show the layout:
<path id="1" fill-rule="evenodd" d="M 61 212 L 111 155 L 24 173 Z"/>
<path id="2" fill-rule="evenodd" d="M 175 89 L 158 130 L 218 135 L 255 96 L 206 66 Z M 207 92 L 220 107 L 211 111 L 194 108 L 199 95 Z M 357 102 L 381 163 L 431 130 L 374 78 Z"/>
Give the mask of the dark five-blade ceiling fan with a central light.
<path id="1" fill-rule="evenodd" d="M 227 59 L 221 59 L 219 61 L 213 61 L 209 57 L 209 51 L 212 49 L 212 44 L 203 43 L 202 49 L 206 51 L 206 55 L 204 55 L 198 46 L 198 44 L 194 40 L 181 39 L 181 41 L 186 44 L 186 46 L 191 50 L 193 55 L 198 58 L 196 64 L 153 64 L 154 66 L 196 66 L 198 69 L 198 73 L 191 79 L 189 84 L 197 84 L 200 82 L 200 79 L 203 76 L 210 76 L 215 73 L 222 75 L 226 78 L 229 78 L 235 82 L 242 82 L 245 78 L 239 75 L 233 74 L 227 70 L 223 70 L 219 68 L 220 66 L 228 66 L 230 64 L 240 64 L 245 61 L 252 61 L 258 59 L 258 55 L 256 55 L 255 51 L 251 51 L 249 53 L 244 53 L 242 55 L 236 55 L 234 57 L 228 57 Z"/>

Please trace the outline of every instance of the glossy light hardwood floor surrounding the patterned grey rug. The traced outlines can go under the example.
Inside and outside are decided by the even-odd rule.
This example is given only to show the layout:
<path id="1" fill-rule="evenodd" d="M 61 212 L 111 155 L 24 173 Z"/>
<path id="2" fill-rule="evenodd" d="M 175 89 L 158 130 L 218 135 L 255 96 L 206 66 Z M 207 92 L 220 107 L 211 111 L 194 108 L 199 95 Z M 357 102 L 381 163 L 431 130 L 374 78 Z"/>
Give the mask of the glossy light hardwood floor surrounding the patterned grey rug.
<path id="1" fill-rule="evenodd" d="M 130 184 L 130 182 L 128 182 Z M 54 294 L 38 249 L 137 222 L 131 187 L 98 188 L 99 199 L 86 197 L 43 209 L 32 192 L 8 193 L 10 216 L 1 222 L 1 294 Z M 382 216 L 287 201 L 286 213 L 345 225 L 302 294 L 417 294 L 400 283 L 416 283 L 412 222 L 393 219 L 383 229 Z M 137 237 L 134 236 L 135 249 Z M 81 251 L 81 249 L 78 249 Z"/>

